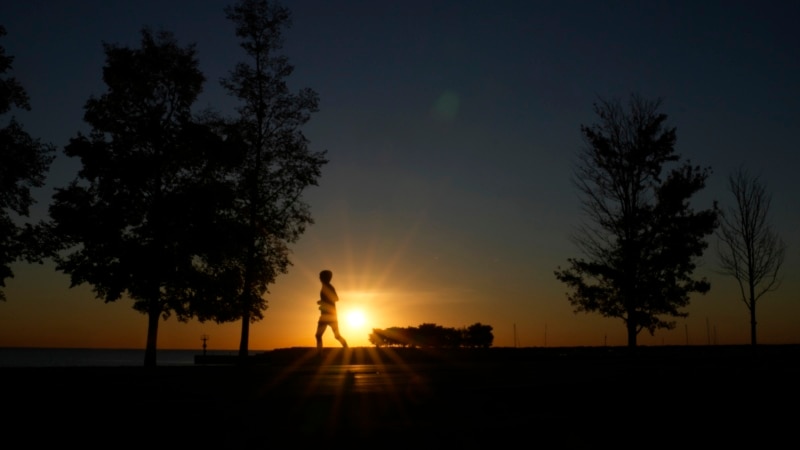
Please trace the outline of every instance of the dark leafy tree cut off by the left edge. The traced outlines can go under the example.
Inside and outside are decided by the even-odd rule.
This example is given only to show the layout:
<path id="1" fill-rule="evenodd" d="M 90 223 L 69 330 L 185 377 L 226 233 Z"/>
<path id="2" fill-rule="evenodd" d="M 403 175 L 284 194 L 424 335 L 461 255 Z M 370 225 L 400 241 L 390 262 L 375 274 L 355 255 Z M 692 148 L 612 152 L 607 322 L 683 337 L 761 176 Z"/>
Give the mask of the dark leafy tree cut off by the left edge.
<path id="1" fill-rule="evenodd" d="M 0 26 L 0 37 L 6 30 Z M 0 115 L 12 107 L 30 110 L 28 94 L 22 84 L 6 74 L 12 70 L 14 57 L 0 46 Z M 39 260 L 33 250 L 36 236 L 33 228 L 19 223 L 30 215 L 34 200 L 32 188 L 42 187 L 47 169 L 53 161 L 54 148 L 28 134 L 11 117 L 0 128 L 0 301 L 5 301 L 5 280 L 14 277 L 11 264 L 20 260 Z"/>

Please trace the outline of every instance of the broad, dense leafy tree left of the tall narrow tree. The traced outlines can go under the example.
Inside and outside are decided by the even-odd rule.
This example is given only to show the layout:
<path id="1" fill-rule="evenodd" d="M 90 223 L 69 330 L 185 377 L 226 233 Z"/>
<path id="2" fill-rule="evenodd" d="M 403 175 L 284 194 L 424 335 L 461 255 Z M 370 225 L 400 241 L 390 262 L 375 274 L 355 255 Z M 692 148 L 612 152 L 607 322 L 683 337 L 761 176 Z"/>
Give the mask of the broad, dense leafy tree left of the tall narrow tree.
<path id="1" fill-rule="evenodd" d="M 159 319 L 191 315 L 196 246 L 206 240 L 197 227 L 215 203 L 198 199 L 215 191 L 203 167 L 216 135 L 191 115 L 205 81 L 193 45 L 143 30 L 140 48 L 104 50 L 107 91 L 85 105 L 91 134 L 65 147 L 82 168 L 50 207 L 62 248 L 54 258 L 72 286 L 88 283 L 106 302 L 133 299 L 148 317 L 144 363 L 153 366 Z"/>

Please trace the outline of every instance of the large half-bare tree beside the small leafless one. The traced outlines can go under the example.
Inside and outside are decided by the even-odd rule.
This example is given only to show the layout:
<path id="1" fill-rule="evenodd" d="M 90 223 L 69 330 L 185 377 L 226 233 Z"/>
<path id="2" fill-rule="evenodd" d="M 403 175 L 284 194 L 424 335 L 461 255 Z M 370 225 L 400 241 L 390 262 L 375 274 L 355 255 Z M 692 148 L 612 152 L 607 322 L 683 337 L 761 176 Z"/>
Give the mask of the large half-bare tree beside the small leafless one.
<path id="1" fill-rule="evenodd" d="M 690 200 L 710 169 L 680 162 L 675 128 L 666 127 L 660 100 L 632 95 L 595 104 L 599 123 L 581 126 L 586 147 L 574 182 L 588 222 L 575 241 L 584 258 L 570 258 L 555 275 L 571 291 L 575 312 L 597 312 L 624 321 L 628 345 L 646 329 L 674 328 L 662 317 L 685 317 L 693 292 L 710 289 L 695 280 L 695 260 L 717 223 L 716 205 L 695 211 Z M 663 173 L 669 163 L 678 166 Z"/>

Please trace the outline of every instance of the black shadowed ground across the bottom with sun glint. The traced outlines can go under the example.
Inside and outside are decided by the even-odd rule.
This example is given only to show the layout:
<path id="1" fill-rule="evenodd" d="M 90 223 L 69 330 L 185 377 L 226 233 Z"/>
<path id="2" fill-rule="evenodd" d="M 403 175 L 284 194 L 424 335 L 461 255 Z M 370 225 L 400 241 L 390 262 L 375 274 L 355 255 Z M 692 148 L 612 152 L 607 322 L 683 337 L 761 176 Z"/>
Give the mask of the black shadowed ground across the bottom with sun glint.
<path id="1" fill-rule="evenodd" d="M 0 376 L 13 448 L 763 449 L 800 427 L 800 346 L 287 349 Z"/>

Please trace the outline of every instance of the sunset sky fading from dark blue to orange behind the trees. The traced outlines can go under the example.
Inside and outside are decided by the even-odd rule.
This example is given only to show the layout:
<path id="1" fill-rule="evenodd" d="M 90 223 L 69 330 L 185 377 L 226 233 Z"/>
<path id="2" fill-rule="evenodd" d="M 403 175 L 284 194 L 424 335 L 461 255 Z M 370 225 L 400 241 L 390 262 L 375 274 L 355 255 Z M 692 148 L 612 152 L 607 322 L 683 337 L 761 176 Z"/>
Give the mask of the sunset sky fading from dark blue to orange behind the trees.
<path id="1" fill-rule="evenodd" d="M 143 26 L 196 43 L 208 79 L 199 108 L 230 112 L 218 80 L 241 59 L 223 1 L 3 2 L 2 45 L 31 97 L 15 112 L 59 147 L 83 105 L 105 90 L 102 42 L 138 46 Z M 574 314 L 553 271 L 580 256 L 583 220 L 570 181 L 599 97 L 662 97 L 676 150 L 714 170 L 697 207 L 731 203 L 738 166 L 773 194 L 788 245 L 783 284 L 758 308 L 759 341 L 800 343 L 800 3 L 733 1 L 287 1 L 294 88 L 320 95 L 305 129 L 327 150 L 307 192 L 315 224 L 293 246 L 251 349 L 314 345 L 317 274 L 334 273 L 351 345 L 370 328 L 436 323 L 494 327 L 496 346 L 624 345 L 619 319 Z M 4 118 L 4 120 L 6 120 Z M 60 155 L 36 214 L 77 165 Z M 673 331 L 644 345 L 743 344 L 749 317 L 717 270 L 716 238 L 695 296 Z M 0 303 L 0 346 L 143 348 L 146 317 L 69 288 L 51 263 L 14 265 Z M 159 348 L 238 346 L 240 324 L 161 322 Z M 330 331 L 327 345 L 336 344 Z"/>

